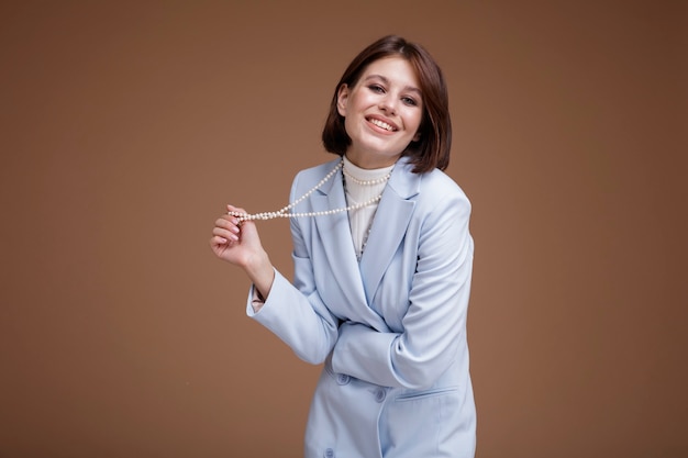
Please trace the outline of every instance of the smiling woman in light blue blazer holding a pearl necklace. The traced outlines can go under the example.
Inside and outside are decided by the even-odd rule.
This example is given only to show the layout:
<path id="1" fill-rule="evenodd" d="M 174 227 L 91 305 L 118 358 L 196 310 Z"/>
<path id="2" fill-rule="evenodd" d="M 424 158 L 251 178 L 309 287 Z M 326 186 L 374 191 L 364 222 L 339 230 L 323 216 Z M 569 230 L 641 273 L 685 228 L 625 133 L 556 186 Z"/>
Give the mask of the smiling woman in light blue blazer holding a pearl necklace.
<path id="1" fill-rule="evenodd" d="M 473 457 L 466 312 L 470 204 L 448 164 L 446 86 L 398 36 L 364 49 L 336 86 L 323 131 L 340 156 L 299 172 L 289 206 L 228 205 L 215 255 L 253 282 L 247 314 L 303 360 L 324 362 L 307 457 Z M 290 217 L 295 279 L 254 220 Z"/>

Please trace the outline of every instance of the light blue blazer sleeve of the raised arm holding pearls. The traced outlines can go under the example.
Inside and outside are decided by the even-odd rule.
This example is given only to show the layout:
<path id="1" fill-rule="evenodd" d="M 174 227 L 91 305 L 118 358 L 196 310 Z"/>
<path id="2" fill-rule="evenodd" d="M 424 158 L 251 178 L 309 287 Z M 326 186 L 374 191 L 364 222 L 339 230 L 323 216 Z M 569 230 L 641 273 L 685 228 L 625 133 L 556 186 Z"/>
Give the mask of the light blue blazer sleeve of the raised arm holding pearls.
<path id="1" fill-rule="evenodd" d="M 291 187 L 293 202 L 298 177 Z M 255 287 L 251 287 L 246 314 L 270 329 L 302 360 L 317 365 L 325 360 L 337 339 L 339 319 L 325 306 L 315 289 L 313 266 L 298 221 L 291 221 L 295 281 L 275 270 L 275 281 L 263 308 L 253 310 Z"/>

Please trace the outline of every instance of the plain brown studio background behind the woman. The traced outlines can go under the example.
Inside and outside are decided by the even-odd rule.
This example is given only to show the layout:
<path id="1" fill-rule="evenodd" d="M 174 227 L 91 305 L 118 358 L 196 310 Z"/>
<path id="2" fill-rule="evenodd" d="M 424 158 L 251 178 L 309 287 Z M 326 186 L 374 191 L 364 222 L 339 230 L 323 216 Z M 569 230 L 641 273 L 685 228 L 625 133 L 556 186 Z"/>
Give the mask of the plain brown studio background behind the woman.
<path id="1" fill-rule="evenodd" d="M 688 456 L 687 3 L 1 3 L 0 457 L 301 455 L 320 368 L 208 238 L 387 33 L 450 83 L 478 457 Z"/>

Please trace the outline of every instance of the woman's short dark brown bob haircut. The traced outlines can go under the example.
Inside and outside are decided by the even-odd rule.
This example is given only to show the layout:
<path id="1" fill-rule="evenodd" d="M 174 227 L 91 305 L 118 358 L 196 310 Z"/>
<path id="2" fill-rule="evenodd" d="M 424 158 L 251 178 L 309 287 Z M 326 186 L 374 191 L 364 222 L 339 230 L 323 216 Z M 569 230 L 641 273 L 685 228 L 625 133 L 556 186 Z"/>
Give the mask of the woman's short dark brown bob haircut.
<path id="1" fill-rule="evenodd" d="M 371 63 L 385 57 L 402 57 L 411 64 L 420 82 L 423 116 L 419 127 L 420 139 L 411 142 L 402 155 L 411 158 L 414 174 L 435 168 L 446 169 L 452 147 L 452 121 L 446 83 L 440 66 L 419 44 L 407 42 L 397 35 L 385 36 L 358 54 L 337 82 L 330 112 L 322 131 L 322 143 L 330 153 L 343 156 L 352 141 L 344 127 L 344 116 L 337 109 L 337 93 L 342 85 L 354 87 Z"/>

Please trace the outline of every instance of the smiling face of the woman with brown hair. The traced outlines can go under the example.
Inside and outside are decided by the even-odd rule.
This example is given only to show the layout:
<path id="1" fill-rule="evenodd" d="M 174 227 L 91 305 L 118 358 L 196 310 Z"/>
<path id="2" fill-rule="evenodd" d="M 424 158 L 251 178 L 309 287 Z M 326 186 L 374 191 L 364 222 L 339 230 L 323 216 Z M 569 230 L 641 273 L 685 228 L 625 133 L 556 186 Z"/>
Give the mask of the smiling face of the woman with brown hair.
<path id="1" fill-rule="evenodd" d="M 362 168 L 395 164 L 420 137 L 423 99 L 411 64 L 396 56 L 369 64 L 354 87 L 340 88 L 337 111 L 352 139 L 346 150 L 352 163 Z"/>

